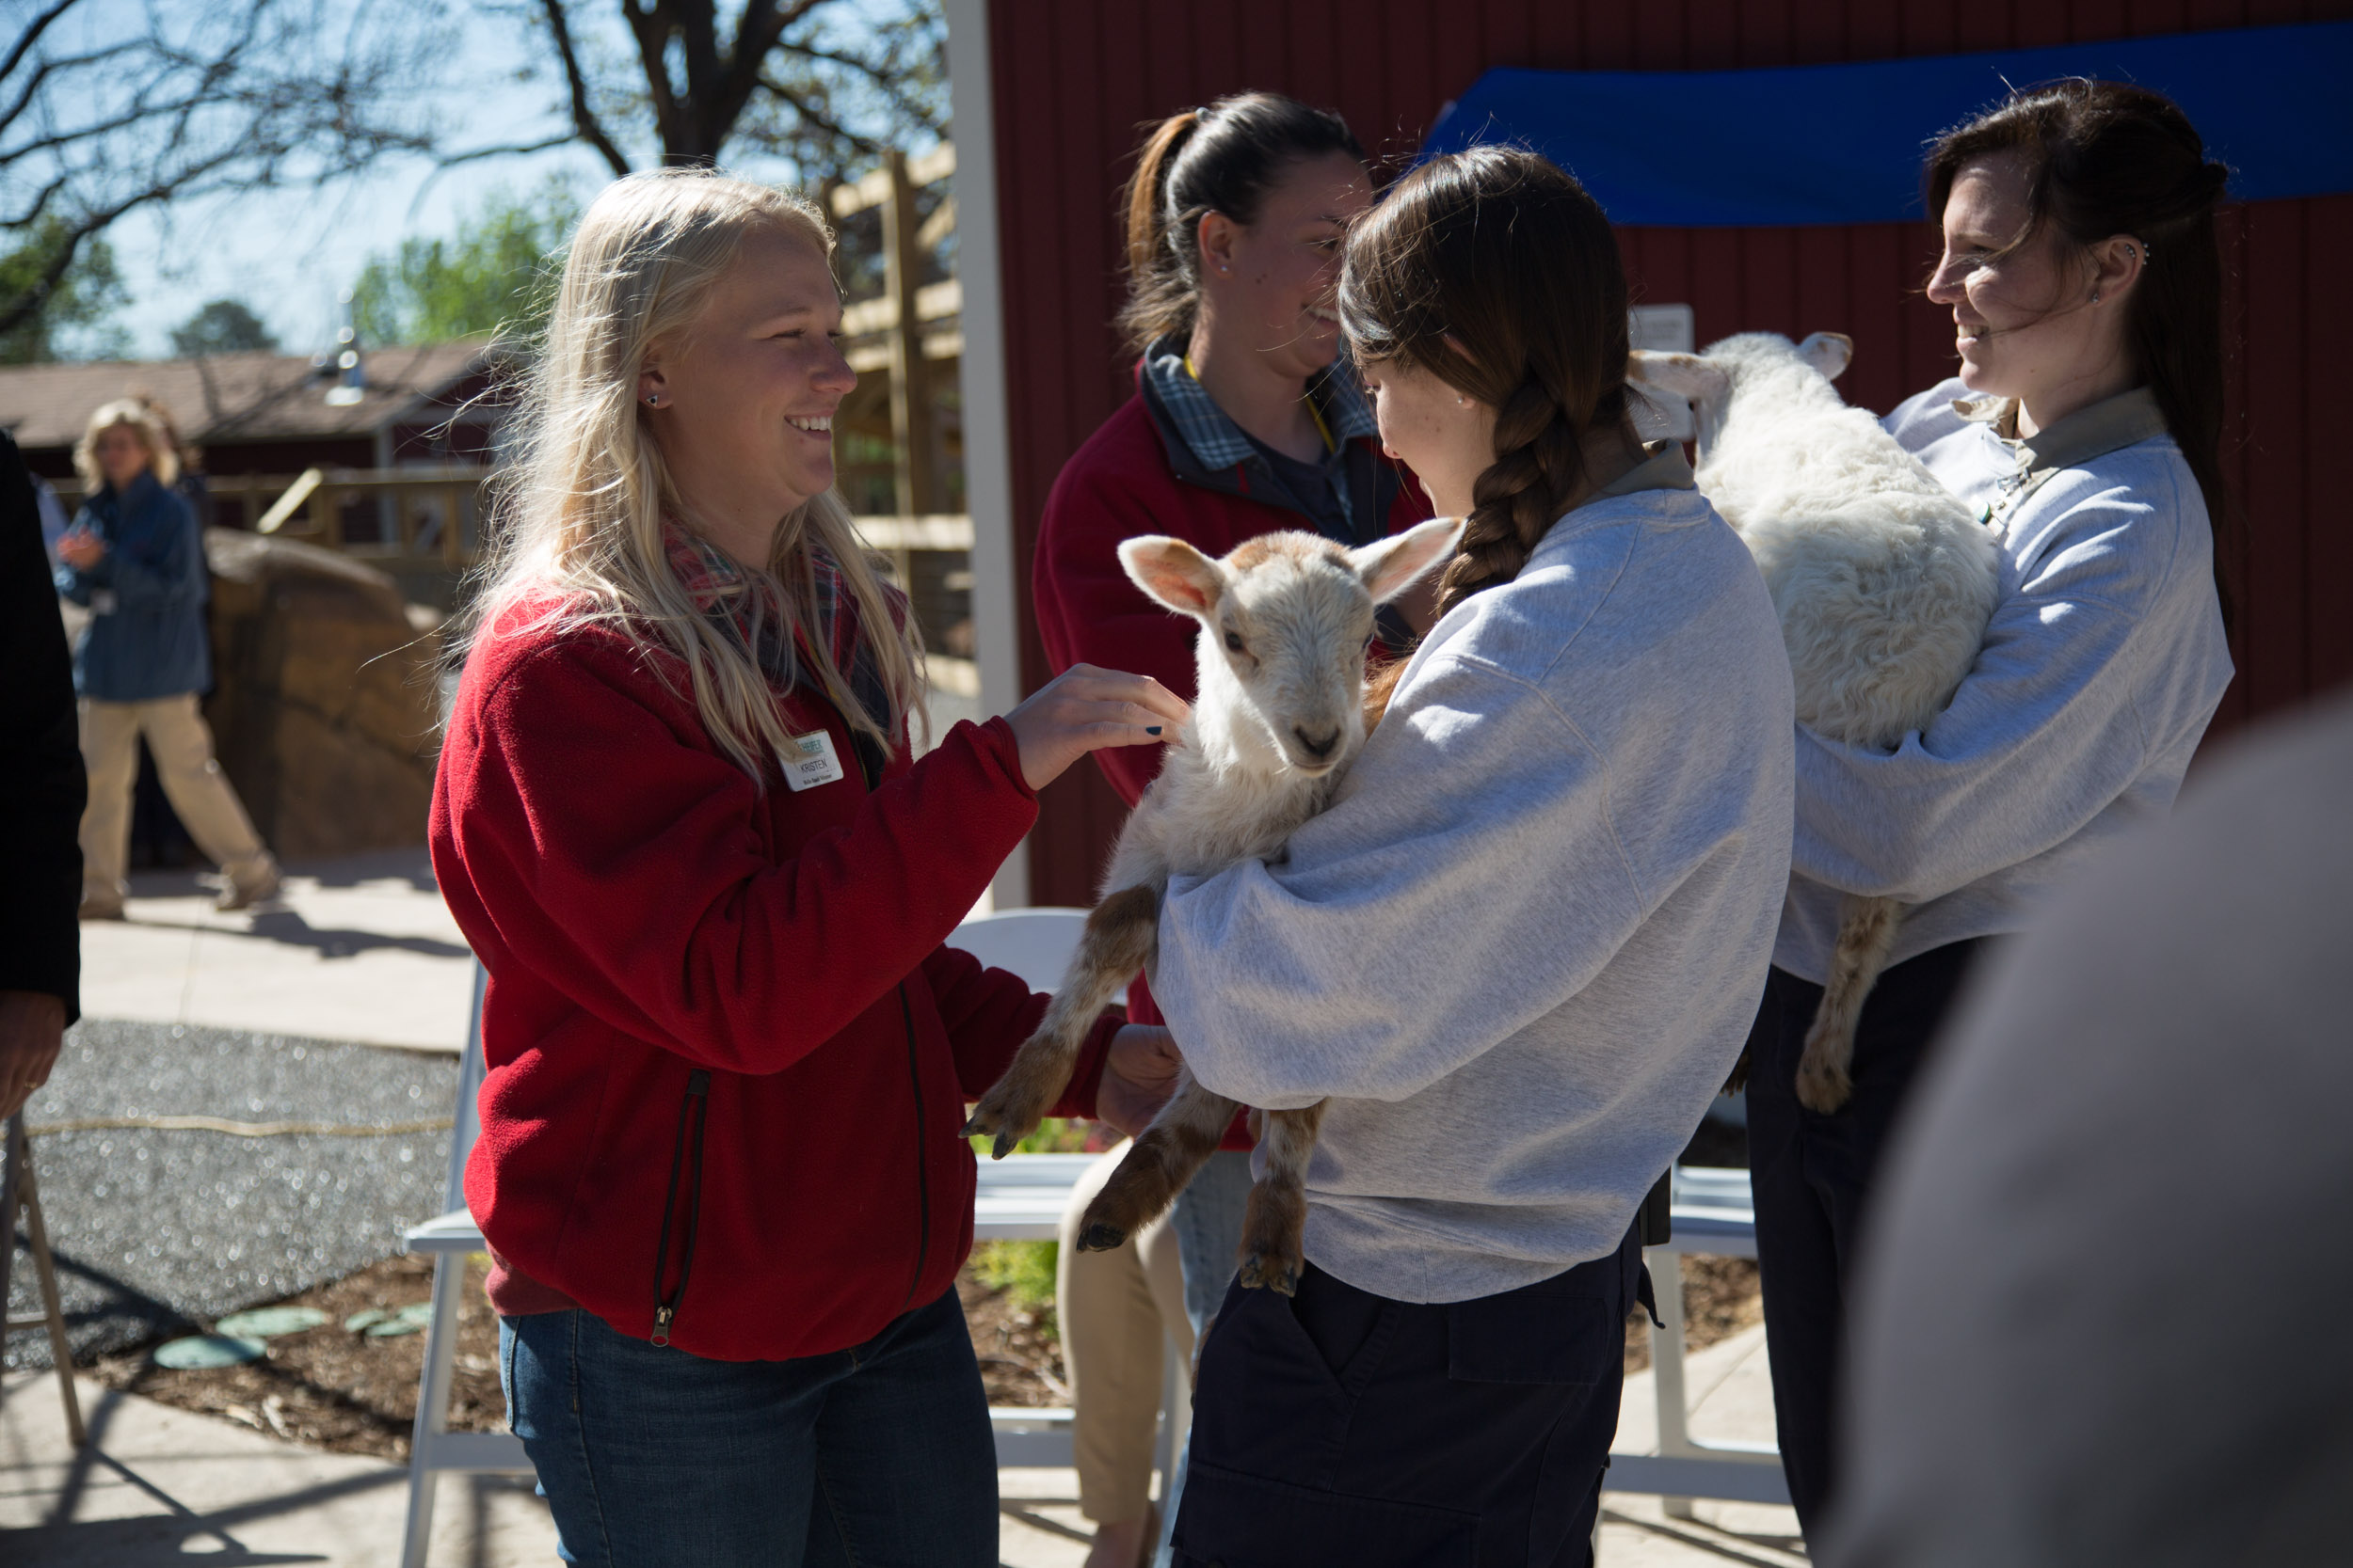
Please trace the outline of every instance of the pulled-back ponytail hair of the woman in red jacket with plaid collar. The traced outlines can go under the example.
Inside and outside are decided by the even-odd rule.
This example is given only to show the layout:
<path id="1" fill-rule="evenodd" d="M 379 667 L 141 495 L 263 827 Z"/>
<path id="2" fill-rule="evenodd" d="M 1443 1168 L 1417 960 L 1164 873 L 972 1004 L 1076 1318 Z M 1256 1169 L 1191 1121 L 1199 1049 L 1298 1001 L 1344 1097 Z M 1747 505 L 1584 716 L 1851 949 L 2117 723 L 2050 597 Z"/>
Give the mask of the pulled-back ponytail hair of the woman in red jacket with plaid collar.
<path id="1" fill-rule="evenodd" d="M 1280 92 L 1233 94 L 1155 125 L 1120 193 L 1127 214 L 1120 331 L 1127 346 L 1144 353 L 1167 334 L 1193 327 L 1205 214 L 1224 212 L 1247 228 L 1294 162 L 1325 153 L 1365 162 L 1346 120 Z"/>

